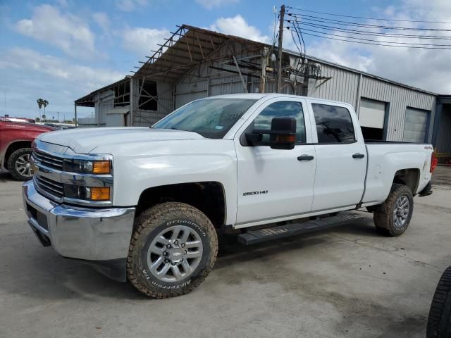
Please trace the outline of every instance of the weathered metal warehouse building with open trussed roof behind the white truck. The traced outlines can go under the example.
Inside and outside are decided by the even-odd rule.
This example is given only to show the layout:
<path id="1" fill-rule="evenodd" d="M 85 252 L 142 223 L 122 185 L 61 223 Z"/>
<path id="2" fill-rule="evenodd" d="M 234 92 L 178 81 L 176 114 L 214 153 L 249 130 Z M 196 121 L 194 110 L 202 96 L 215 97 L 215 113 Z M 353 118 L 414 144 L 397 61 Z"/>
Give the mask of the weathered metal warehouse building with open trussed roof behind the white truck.
<path id="1" fill-rule="evenodd" d="M 133 75 L 75 101 L 95 107 L 80 127 L 149 126 L 194 99 L 219 94 L 276 92 L 277 49 L 248 39 L 182 25 L 140 61 Z M 432 142 L 451 153 L 451 96 L 283 50 L 286 94 L 354 106 L 367 139 Z"/>

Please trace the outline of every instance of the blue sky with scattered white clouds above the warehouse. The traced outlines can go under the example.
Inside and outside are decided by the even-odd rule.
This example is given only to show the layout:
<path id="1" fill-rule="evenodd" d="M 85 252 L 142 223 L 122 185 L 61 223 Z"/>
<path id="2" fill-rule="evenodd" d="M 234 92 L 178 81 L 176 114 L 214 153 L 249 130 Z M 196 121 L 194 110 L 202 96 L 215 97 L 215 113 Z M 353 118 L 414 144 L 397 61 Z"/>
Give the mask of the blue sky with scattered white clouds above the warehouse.
<path id="1" fill-rule="evenodd" d="M 451 1 L 0 0 L 0 115 L 73 116 L 73 101 L 130 74 L 176 25 L 268 42 L 273 6 L 388 18 L 451 21 Z M 285 46 L 294 48 L 290 36 Z M 451 92 L 449 51 L 393 50 L 305 37 L 307 54 L 435 92 Z M 402 63 L 402 64 L 400 64 Z M 426 69 L 425 69 L 426 68 Z M 446 68 L 445 73 L 443 68 Z M 85 109 L 81 115 L 89 115 Z"/>

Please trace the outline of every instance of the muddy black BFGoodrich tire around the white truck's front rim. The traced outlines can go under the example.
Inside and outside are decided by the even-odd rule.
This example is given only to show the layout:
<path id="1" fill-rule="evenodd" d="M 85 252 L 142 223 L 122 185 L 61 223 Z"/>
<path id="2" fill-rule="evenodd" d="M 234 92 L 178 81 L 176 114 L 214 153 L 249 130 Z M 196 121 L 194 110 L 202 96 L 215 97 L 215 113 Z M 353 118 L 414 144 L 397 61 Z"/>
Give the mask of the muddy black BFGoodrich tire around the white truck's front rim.
<path id="1" fill-rule="evenodd" d="M 147 247 L 159 232 L 170 225 L 188 225 L 202 240 L 202 258 L 194 272 L 185 280 L 163 282 L 150 273 Z M 157 204 L 135 218 L 134 231 L 127 258 L 128 280 L 143 294 L 156 298 L 180 296 L 201 284 L 216 262 L 218 237 L 209 218 L 197 208 L 178 202 Z"/>

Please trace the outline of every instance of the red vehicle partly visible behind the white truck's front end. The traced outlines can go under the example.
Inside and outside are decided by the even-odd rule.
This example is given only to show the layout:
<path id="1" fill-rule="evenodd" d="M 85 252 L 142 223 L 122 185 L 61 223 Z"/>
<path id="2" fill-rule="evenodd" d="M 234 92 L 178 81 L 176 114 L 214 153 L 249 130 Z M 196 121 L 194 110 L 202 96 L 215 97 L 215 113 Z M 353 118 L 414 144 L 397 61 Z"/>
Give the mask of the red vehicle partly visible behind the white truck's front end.
<path id="1" fill-rule="evenodd" d="M 37 135 L 52 130 L 25 118 L 0 117 L 0 169 L 8 170 L 16 180 L 31 180 L 31 142 Z"/>

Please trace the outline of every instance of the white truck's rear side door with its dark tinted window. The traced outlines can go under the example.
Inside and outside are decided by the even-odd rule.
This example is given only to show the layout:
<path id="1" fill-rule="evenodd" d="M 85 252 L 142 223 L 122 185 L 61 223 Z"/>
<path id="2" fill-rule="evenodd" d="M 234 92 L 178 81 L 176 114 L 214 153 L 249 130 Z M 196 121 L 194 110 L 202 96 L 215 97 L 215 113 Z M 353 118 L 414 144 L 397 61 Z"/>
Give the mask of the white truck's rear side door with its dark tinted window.
<path id="1" fill-rule="evenodd" d="M 355 206 L 362 199 L 366 174 L 366 148 L 357 116 L 346 104 L 309 100 L 308 106 L 316 130 L 312 211 Z"/>

